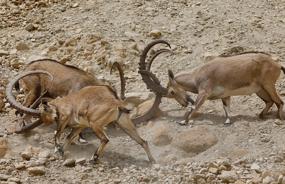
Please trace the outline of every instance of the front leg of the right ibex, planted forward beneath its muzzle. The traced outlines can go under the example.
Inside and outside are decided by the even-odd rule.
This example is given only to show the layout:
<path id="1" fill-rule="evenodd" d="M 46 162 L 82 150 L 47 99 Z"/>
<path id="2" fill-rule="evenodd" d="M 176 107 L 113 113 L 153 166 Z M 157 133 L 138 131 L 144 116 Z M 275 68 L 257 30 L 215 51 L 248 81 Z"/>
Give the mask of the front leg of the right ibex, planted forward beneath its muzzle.
<path id="1" fill-rule="evenodd" d="M 181 125 L 187 125 L 188 121 L 193 117 L 193 115 L 196 113 L 196 111 L 203 105 L 205 100 L 210 96 L 209 93 L 205 91 L 199 92 L 196 101 L 194 105 L 190 109 L 190 113 L 187 115 L 186 119 L 180 122 L 176 122 L 175 125 L 181 126 Z"/>

